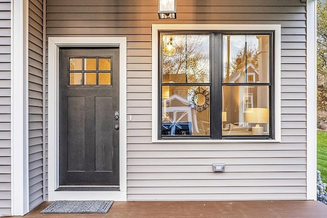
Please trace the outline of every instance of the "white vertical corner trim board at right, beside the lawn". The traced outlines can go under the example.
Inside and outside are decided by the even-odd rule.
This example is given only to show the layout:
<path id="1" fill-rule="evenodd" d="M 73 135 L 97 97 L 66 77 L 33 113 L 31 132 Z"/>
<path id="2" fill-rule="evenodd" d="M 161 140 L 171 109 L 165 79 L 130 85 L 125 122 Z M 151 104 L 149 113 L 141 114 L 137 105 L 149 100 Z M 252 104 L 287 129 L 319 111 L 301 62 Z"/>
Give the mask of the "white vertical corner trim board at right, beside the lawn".
<path id="1" fill-rule="evenodd" d="M 317 200 L 316 0 L 307 1 L 307 200 Z"/>

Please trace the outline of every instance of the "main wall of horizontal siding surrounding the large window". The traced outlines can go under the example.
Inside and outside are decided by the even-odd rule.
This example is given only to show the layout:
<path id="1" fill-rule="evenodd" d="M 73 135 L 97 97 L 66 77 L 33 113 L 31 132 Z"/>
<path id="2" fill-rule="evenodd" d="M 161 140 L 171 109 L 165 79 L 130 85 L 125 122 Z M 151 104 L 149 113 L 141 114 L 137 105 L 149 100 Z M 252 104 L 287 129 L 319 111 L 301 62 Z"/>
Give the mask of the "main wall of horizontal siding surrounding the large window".
<path id="1" fill-rule="evenodd" d="M 127 37 L 128 200 L 306 199 L 306 4 L 179 0 L 176 20 L 156 11 L 148 0 L 47 1 L 48 36 Z M 151 143 L 153 23 L 281 24 L 282 143 Z"/>

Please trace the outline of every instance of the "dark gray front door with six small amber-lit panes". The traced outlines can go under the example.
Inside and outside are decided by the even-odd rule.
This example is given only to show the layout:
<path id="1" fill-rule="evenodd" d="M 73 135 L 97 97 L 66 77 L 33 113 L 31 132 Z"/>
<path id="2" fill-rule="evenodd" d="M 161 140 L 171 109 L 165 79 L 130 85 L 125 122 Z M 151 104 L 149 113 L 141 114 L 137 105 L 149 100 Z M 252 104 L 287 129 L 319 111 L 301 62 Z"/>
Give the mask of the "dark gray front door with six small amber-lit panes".
<path id="1" fill-rule="evenodd" d="M 119 186 L 119 49 L 60 49 L 59 185 Z"/>

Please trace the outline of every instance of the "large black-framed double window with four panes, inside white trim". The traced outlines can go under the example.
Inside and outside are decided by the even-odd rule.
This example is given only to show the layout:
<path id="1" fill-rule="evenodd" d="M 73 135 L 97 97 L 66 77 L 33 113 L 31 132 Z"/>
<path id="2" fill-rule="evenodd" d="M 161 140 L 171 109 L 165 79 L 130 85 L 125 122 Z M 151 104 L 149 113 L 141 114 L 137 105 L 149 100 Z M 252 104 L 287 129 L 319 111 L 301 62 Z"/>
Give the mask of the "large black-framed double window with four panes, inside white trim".
<path id="1" fill-rule="evenodd" d="M 273 32 L 160 33 L 161 139 L 272 139 Z"/>

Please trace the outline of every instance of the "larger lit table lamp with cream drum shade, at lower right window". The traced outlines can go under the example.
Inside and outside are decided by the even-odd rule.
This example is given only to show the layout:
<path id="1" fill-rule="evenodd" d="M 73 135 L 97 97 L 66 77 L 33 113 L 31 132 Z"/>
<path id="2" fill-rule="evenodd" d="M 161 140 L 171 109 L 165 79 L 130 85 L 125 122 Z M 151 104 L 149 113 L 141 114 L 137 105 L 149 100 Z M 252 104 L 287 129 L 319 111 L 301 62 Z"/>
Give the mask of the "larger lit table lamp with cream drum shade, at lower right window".
<path id="1" fill-rule="evenodd" d="M 246 108 L 245 119 L 247 123 L 256 124 L 252 127 L 252 135 L 263 135 L 264 128 L 259 124 L 267 124 L 269 121 L 268 108 Z"/>

